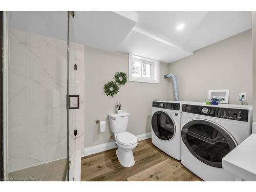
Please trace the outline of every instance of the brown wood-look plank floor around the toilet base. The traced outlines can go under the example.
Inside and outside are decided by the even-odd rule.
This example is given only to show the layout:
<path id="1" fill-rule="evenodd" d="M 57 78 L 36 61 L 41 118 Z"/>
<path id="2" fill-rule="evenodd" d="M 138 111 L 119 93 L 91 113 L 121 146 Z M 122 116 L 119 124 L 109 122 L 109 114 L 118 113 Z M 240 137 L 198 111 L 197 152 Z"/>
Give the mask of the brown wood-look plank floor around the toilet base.
<path id="1" fill-rule="evenodd" d="M 81 181 L 202 181 L 151 139 L 138 142 L 133 154 L 135 165 L 129 168 L 119 163 L 116 148 L 82 158 Z"/>

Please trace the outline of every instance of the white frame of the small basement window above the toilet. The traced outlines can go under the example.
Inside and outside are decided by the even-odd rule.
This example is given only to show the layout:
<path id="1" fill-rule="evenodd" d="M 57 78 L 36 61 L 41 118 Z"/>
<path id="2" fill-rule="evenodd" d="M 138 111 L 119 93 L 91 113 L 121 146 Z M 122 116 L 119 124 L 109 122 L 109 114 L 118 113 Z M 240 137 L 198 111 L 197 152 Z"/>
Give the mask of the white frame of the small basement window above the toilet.
<path id="1" fill-rule="evenodd" d="M 150 63 L 150 78 L 149 77 L 142 77 L 142 65 L 140 66 L 140 75 L 141 77 L 134 77 L 133 76 L 133 60 L 139 60 L 140 62 Z M 140 57 L 137 55 L 129 54 L 129 81 L 134 82 L 146 82 L 146 83 L 160 83 L 159 80 L 160 76 L 160 67 L 159 61 L 148 59 L 144 57 Z"/>

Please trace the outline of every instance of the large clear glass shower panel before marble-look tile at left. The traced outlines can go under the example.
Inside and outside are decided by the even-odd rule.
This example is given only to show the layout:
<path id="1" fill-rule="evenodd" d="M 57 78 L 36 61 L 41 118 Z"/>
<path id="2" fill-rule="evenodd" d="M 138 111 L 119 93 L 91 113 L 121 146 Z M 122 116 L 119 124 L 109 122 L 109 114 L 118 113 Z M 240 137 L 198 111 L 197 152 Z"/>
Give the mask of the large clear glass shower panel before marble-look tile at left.
<path id="1" fill-rule="evenodd" d="M 75 147 L 70 111 L 79 108 L 75 75 L 69 72 L 74 69 L 69 61 L 76 58 L 69 39 L 73 15 L 8 12 L 9 181 L 69 180 Z"/>

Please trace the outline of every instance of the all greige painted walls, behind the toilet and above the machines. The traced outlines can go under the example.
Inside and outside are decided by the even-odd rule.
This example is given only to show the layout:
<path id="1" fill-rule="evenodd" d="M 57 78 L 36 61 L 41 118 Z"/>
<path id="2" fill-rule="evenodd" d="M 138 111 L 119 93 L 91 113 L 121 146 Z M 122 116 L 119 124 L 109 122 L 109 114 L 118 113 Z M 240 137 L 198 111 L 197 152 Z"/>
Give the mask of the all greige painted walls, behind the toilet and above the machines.
<path id="1" fill-rule="evenodd" d="M 247 93 L 252 104 L 251 31 L 224 39 L 176 62 L 160 62 L 160 84 L 127 82 L 114 97 L 103 92 L 104 83 L 117 72 L 129 72 L 129 55 L 85 47 L 85 146 L 110 142 L 108 114 L 118 101 L 130 113 L 127 131 L 134 135 L 151 132 L 152 100 L 173 100 L 172 80 L 163 75 L 174 73 L 181 100 L 204 101 L 209 89 L 229 89 L 229 103 L 240 104 L 239 93 Z M 212 72 L 213 68 L 217 71 Z M 241 77 L 241 80 L 238 78 Z M 99 133 L 96 120 L 106 121 Z"/>

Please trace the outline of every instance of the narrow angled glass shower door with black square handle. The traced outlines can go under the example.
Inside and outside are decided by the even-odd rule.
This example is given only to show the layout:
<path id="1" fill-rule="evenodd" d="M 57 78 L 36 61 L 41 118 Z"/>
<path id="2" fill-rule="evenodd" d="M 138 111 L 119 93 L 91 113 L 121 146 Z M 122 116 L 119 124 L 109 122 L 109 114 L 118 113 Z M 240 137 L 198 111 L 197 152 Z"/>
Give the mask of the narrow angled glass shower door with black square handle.
<path id="1" fill-rule="evenodd" d="M 70 181 L 80 181 L 81 156 L 84 154 L 84 46 L 79 29 L 86 11 L 69 12 L 69 157 Z M 78 38 L 80 37 L 80 38 Z"/>

